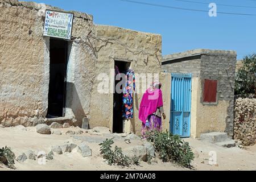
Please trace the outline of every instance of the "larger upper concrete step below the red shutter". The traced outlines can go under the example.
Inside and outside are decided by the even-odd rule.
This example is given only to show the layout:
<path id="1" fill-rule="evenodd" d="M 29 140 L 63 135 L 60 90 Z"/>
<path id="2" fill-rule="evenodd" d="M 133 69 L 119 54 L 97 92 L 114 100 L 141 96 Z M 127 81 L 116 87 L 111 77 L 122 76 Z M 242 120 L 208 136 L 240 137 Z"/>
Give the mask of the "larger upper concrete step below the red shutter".
<path id="1" fill-rule="evenodd" d="M 200 135 L 200 139 L 210 143 L 225 142 L 226 140 L 229 140 L 228 134 L 221 132 L 203 133 Z"/>

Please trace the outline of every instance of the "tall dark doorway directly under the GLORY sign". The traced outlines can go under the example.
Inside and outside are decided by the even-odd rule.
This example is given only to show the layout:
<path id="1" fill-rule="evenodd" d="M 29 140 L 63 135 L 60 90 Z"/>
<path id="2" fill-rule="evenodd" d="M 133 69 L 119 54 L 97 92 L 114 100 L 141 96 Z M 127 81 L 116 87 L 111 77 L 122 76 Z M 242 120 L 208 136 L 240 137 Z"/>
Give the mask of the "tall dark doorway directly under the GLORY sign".
<path id="1" fill-rule="evenodd" d="M 50 39 L 47 118 L 64 117 L 68 42 Z"/>

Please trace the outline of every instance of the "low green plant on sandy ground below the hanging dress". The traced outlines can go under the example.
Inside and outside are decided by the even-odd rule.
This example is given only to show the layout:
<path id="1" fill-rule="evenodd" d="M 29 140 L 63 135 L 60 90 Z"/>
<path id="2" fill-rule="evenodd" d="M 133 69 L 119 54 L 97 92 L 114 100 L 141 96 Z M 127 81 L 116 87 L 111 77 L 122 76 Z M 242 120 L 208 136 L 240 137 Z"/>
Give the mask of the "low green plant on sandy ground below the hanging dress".
<path id="1" fill-rule="evenodd" d="M 100 143 L 100 151 L 103 158 L 109 165 L 117 164 L 117 166 L 127 166 L 130 164 L 138 165 L 139 159 L 134 156 L 130 159 L 128 156 L 124 155 L 122 148 L 115 146 L 114 151 L 112 150 L 113 139 L 106 139 L 104 142 Z"/>

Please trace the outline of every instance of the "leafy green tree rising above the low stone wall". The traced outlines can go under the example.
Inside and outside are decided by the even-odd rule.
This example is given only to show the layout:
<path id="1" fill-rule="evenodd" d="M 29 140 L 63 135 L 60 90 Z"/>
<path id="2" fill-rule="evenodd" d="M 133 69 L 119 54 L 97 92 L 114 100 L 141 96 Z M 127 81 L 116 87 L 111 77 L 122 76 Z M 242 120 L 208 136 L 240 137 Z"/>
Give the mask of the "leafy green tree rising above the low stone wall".
<path id="1" fill-rule="evenodd" d="M 235 94 L 254 94 L 256 87 L 256 54 L 246 56 L 236 73 Z"/>

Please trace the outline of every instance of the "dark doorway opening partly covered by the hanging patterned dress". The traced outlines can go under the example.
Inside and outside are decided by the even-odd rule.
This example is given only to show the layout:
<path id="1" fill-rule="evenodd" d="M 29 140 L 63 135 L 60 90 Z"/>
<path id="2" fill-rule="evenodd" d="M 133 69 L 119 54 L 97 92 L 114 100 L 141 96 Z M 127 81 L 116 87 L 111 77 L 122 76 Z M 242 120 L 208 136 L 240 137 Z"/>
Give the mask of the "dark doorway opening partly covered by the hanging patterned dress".
<path id="1" fill-rule="evenodd" d="M 125 62 L 125 61 L 115 61 L 115 73 L 117 74 L 117 68 L 119 73 L 124 73 L 129 70 L 131 63 Z M 115 88 L 117 84 L 121 80 L 115 80 Z M 120 89 L 122 90 L 122 84 L 120 84 Z M 123 117 L 122 117 L 122 112 L 123 112 L 123 93 L 118 93 L 117 90 L 114 92 L 114 102 L 113 102 L 113 133 L 123 133 Z"/>

